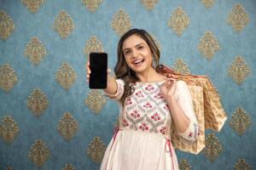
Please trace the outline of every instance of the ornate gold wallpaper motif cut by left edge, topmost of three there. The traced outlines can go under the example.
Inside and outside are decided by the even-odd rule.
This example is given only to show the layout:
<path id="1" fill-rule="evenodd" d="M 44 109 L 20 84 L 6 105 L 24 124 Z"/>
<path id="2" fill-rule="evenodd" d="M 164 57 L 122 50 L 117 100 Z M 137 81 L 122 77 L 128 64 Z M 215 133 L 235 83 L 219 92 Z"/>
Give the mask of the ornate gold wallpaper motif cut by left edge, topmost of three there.
<path id="1" fill-rule="evenodd" d="M 6 40 L 7 37 L 15 30 L 14 21 L 4 11 L 0 10 L 0 38 Z"/>

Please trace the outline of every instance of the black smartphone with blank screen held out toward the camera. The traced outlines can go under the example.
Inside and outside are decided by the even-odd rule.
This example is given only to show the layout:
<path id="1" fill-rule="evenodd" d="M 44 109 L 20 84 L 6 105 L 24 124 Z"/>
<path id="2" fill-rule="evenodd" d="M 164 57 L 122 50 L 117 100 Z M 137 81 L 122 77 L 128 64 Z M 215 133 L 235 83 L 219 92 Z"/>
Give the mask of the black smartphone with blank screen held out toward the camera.
<path id="1" fill-rule="evenodd" d="M 89 88 L 107 88 L 108 54 L 90 53 Z"/>

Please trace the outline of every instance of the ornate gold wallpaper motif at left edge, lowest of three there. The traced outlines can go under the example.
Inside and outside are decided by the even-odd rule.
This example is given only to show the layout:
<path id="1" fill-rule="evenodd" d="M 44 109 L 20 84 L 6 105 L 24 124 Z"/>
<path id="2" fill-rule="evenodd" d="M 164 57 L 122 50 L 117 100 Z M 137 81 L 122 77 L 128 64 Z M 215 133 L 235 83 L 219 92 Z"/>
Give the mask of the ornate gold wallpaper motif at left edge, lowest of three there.
<path id="1" fill-rule="evenodd" d="M 11 116 L 4 116 L 0 122 L 0 137 L 6 143 L 14 141 L 17 134 L 20 133 L 20 128 Z"/>

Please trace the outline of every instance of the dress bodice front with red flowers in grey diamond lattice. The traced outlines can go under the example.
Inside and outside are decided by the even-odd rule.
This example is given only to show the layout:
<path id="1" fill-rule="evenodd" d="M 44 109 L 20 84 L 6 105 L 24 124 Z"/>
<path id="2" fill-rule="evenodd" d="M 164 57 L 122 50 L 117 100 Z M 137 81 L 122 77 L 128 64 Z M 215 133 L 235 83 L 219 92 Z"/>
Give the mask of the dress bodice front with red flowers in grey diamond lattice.
<path id="1" fill-rule="evenodd" d="M 123 126 L 133 130 L 166 135 L 166 119 L 170 113 L 160 94 L 160 83 L 137 82 L 132 85 L 136 86 L 134 87 L 136 90 L 125 99 Z"/>

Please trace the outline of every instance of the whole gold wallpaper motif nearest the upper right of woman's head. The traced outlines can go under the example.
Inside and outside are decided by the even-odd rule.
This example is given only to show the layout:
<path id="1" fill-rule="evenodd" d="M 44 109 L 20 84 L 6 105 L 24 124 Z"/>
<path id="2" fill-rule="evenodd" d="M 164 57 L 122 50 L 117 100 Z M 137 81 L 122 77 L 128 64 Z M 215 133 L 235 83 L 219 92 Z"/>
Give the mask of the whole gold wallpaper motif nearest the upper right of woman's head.
<path id="1" fill-rule="evenodd" d="M 172 28 L 178 37 L 180 37 L 189 26 L 189 16 L 183 11 L 183 8 L 177 7 L 171 14 L 167 26 Z"/>

